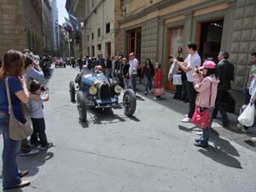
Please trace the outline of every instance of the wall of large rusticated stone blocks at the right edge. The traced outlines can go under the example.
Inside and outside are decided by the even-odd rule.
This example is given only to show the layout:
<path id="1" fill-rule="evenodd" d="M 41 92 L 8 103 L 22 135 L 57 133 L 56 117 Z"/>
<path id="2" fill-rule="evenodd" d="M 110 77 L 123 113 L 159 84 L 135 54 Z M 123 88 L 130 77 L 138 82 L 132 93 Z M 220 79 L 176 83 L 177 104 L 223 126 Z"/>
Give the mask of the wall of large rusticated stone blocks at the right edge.
<path id="1" fill-rule="evenodd" d="M 236 66 L 234 89 L 242 90 L 250 57 L 256 52 L 256 1 L 237 0 L 230 61 Z"/>

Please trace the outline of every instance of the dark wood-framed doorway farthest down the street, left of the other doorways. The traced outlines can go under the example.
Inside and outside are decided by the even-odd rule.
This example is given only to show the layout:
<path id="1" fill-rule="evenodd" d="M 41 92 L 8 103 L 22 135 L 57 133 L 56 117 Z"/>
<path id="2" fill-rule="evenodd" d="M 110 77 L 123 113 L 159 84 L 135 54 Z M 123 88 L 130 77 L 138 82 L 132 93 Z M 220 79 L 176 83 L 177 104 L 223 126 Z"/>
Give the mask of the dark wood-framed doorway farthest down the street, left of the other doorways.
<path id="1" fill-rule="evenodd" d="M 142 49 L 142 28 L 132 29 L 127 32 L 128 39 L 128 54 L 135 53 L 137 59 L 141 59 L 141 49 Z"/>

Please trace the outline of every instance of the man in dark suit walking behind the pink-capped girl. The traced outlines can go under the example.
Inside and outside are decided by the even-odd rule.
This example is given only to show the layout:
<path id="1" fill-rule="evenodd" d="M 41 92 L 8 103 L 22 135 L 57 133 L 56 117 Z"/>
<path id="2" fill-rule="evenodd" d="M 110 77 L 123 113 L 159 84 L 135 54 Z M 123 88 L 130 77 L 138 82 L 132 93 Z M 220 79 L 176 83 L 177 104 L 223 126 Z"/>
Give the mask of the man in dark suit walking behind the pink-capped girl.
<path id="1" fill-rule="evenodd" d="M 224 110 L 224 102 L 227 101 L 227 96 L 230 96 L 227 92 L 231 89 L 231 81 L 234 80 L 234 65 L 228 61 L 230 55 L 226 51 L 220 51 L 218 54 L 218 94 L 215 103 L 215 109 L 212 116 L 216 118 L 217 113 L 222 116 L 222 123 L 220 125 L 229 126 L 230 119 Z"/>

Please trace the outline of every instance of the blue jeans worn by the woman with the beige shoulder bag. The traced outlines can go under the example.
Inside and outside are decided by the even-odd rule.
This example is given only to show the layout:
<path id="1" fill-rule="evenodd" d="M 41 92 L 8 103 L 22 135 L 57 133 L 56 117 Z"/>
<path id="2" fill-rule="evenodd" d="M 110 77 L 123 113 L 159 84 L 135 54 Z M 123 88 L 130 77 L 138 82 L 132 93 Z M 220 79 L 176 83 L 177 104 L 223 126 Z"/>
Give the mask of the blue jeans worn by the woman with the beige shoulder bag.
<path id="1" fill-rule="evenodd" d="M 20 141 L 9 137 L 9 114 L 0 114 L 0 129 L 3 132 L 3 189 L 8 189 L 21 182 L 16 162 L 16 156 L 20 152 Z"/>

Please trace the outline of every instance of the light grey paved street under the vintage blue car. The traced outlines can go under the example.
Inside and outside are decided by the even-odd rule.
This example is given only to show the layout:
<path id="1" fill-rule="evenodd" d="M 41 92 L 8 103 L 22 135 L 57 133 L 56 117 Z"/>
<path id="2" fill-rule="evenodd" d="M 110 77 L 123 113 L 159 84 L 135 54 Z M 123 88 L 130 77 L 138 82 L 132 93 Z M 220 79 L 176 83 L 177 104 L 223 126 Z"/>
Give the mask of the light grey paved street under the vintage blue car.
<path id="1" fill-rule="evenodd" d="M 207 149 L 196 148 L 199 130 L 180 123 L 187 109 L 183 103 L 165 106 L 165 100 L 155 102 L 138 92 L 134 117 L 126 117 L 122 108 L 90 110 L 88 124 L 80 124 L 68 92 L 77 73 L 77 68 L 53 69 L 44 115 L 54 147 L 19 156 L 31 185 L 9 191 L 255 191 L 255 152 L 218 134 L 212 134 Z"/>

